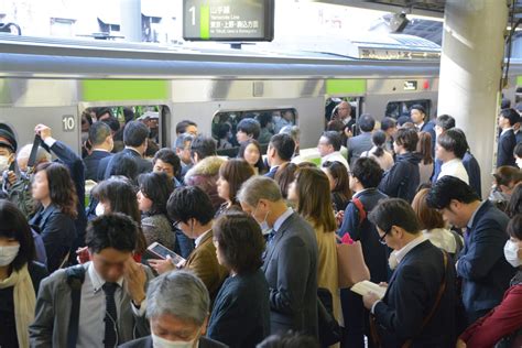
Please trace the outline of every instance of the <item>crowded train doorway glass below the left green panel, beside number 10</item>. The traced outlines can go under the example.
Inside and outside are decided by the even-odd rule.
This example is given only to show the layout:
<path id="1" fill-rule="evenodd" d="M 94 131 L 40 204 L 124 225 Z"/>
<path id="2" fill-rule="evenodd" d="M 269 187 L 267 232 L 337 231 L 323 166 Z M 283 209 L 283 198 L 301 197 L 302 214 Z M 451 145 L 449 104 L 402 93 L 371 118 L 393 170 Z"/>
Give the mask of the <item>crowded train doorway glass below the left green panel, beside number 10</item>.
<path id="1" fill-rule="evenodd" d="M 150 130 L 148 150 L 145 157 L 154 156 L 154 153 L 166 145 L 165 121 L 170 117 L 166 106 L 105 106 L 88 107 L 81 112 L 81 142 L 83 154 L 90 151 L 91 145 L 87 142 L 89 127 L 95 121 L 105 121 L 111 128 L 115 148 L 112 152 L 124 149 L 123 128 L 127 122 L 138 120 L 143 122 Z"/>

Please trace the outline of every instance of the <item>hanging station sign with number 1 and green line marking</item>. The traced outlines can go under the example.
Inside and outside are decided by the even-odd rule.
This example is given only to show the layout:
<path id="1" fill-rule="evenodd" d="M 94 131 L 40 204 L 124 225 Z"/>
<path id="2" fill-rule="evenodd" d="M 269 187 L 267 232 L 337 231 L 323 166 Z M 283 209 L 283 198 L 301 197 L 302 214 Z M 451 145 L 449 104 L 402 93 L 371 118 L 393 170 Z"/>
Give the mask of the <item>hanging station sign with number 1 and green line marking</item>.
<path id="1" fill-rule="evenodd" d="M 272 41 L 274 0 L 183 0 L 183 39 Z"/>

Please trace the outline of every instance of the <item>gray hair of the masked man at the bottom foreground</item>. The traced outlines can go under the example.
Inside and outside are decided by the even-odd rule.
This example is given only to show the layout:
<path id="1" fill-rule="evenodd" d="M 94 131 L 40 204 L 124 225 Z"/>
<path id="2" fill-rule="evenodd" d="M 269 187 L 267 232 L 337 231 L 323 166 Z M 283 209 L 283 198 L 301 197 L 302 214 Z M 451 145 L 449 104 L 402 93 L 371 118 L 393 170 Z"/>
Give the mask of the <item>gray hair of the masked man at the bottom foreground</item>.
<path id="1" fill-rule="evenodd" d="M 210 308 L 207 287 L 194 273 L 172 271 L 154 279 L 146 291 L 146 316 L 170 314 L 202 326 Z"/>

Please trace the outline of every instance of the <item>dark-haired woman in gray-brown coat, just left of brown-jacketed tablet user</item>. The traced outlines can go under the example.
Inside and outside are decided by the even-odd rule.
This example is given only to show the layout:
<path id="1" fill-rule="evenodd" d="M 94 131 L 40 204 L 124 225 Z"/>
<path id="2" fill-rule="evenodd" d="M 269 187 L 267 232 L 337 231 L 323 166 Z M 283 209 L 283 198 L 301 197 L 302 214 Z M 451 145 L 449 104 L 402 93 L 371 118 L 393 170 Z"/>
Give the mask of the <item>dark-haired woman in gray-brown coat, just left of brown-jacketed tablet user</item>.
<path id="1" fill-rule="evenodd" d="M 166 202 L 174 191 L 174 183 L 165 173 L 148 173 L 138 177 L 138 207 L 142 213 L 141 227 L 146 244 L 159 242 L 174 250 L 175 235 L 166 217 Z"/>

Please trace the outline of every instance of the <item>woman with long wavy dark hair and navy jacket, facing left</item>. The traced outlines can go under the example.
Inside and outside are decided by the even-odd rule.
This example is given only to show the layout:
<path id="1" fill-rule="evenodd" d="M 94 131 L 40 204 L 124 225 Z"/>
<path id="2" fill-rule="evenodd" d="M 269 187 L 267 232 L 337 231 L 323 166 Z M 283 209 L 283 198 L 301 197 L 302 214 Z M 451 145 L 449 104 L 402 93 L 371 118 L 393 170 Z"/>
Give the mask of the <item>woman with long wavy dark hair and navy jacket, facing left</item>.
<path id="1" fill-rule="evenodd" d="M 40 229 L 47 270 L 53 272 L 61 267 L 76 238 L 78 196 L 67 167 L 54 162 L 40 164 L 32 182 L 32 195 L 39 208 L 30 224 Z"/>

